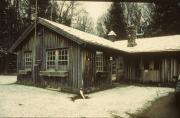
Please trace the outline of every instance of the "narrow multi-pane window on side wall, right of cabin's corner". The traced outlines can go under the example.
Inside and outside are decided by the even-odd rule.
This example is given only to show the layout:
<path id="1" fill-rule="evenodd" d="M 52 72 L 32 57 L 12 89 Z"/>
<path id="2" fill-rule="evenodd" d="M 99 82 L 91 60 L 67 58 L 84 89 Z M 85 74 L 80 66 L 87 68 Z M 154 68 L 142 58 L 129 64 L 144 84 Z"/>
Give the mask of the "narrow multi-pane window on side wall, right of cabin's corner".
<path id="1" fill-rule="evenodd" d="M 102 52 L 96 52 L 96 72 L 104 71 L 104 58 Z"/>

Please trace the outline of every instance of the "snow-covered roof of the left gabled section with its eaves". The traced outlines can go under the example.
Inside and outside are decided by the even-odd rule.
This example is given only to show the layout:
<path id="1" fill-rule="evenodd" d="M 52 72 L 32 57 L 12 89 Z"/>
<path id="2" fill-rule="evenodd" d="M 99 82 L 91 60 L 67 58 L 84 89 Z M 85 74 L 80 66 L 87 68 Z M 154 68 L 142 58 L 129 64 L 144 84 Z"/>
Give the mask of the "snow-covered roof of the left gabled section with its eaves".
<path id="1" fill-rule="evenodd" d="M 115 48 L 113 45 L 113 42 L 110 40 L 107 40 L 105 38 L 86 33 L 77 29 L 74 29 L 72 27 L 68 27 L 44 18 L 38 18 L 37 24 L 42 24 L 55 32 L 63 35 L 64 37 L 67 37 L 73 41 L 76 41 L 78 44 L 91 44 L 98 47 L 108 48 L 108 49 L 114 49 L 119 50 L 118 48 Z M 15 42 L 15 44 L 10 48 L 10 51 L 14 51 L 18 45 L 22 43 L 22 41 L 26 38 L 26 36 L 30 33 L 29 30 L 33 30 L 34 25 L 31 25 L 30 28 L 27 28 L 25 33 L 23 33 L 20 38 Z M 120 51 L 120 50 L 119 50 Z"/>

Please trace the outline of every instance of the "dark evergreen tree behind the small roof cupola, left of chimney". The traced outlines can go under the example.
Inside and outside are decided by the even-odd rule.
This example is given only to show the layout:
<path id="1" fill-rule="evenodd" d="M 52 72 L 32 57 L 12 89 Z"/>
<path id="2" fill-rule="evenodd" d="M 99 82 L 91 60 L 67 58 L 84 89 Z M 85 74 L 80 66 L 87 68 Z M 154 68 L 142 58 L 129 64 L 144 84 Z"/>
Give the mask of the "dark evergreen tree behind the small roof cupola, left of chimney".
<path id="1" fill-rule="evenodd" d="M 117 34 L 118 40 L 127 38 L 124 12 L 120 2 L 112 3 L 108 11 L 108 16 L 105 18 L 104 24 L 106 26 L 107 33 L 113 30 Z"/>

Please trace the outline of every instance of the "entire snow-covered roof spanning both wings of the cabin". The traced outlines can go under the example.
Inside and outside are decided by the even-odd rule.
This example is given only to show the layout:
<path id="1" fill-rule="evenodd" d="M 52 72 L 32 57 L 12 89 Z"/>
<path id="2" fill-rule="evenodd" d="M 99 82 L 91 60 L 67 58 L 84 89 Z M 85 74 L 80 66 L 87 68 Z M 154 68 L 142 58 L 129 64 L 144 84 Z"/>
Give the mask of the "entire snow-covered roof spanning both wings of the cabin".
<path id="1" fill-rule="evenodd" d="M 68 27 L 44 18 L 39 18 L 37 24 L 42 24 L 55 32 L 77 42 L 78 44 L 90 44 L 100 48 L 107 48 L 127 53 L 141 52 L 162 52 L 162 51 L 180 51 L 180 35 L 140 38 L 136 39 L 135 47 L 127 47 L 127 40 L 112 42 L 105 38 L 89 34 L 72 27 Z M 34 29 L 34 24 L 29 26 L 19 39 L 12 45 L 9 51 L 14 51 L 23 42 L 23 40 Z"/>

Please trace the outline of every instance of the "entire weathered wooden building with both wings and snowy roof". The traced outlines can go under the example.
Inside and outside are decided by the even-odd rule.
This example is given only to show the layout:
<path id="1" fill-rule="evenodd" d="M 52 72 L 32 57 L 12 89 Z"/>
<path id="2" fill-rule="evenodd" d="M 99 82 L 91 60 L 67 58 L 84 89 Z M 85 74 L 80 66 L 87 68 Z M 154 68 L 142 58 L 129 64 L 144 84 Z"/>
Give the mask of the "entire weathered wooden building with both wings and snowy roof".
<path id="1" fill-rule="evenodd" d="M 169 83 L 180 74 L 179 35 L 110 41 L 38 18 L 35 40 L 34 27 L 10 48 L 22 84 L 76 91 L 121 80 Z"/>

